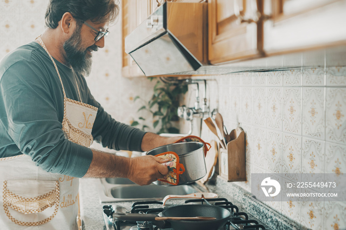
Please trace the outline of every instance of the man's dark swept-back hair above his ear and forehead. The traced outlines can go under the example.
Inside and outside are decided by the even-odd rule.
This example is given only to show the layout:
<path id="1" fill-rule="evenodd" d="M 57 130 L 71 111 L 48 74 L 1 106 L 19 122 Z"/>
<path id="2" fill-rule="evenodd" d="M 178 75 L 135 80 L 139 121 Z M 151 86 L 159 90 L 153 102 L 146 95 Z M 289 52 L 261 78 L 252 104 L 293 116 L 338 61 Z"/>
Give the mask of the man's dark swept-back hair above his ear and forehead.
<path id="1" fill-rule="evenodd" d="M 81 21 L 114 22 L 119 13 L 119 6 L 114 0 L 49 0 L 45 12 L 45 26 L 55 29 L 62 15 L 70 12 Z"/>

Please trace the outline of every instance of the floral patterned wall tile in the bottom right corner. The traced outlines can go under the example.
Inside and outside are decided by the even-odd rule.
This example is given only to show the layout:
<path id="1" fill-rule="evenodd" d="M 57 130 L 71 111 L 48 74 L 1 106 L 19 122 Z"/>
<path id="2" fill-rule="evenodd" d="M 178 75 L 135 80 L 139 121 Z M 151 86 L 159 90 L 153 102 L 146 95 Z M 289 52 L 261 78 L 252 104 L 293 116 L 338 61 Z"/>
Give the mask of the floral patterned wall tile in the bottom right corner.
<path id="1" fill-rule="evenodd" d="M 323 230 L 346 229 L 346 204 L 344 202 L 324 202 Z"/>

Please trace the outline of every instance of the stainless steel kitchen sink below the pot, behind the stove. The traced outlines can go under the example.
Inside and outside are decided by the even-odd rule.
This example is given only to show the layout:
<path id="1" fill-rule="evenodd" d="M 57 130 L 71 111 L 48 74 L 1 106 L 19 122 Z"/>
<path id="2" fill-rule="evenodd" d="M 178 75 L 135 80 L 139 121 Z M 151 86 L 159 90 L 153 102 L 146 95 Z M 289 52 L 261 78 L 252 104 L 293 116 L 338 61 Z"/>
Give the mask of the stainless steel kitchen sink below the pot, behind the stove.
<path id="1" fill-rule="evenodd" d="M 185 195 L 193 192 L 207 192 L 196 183 L 181 186 L 139 186 L 127 178 L 102 178 L 99 180 L 101 202 L 123 202 L 162 200 L 166 195 Z"/>

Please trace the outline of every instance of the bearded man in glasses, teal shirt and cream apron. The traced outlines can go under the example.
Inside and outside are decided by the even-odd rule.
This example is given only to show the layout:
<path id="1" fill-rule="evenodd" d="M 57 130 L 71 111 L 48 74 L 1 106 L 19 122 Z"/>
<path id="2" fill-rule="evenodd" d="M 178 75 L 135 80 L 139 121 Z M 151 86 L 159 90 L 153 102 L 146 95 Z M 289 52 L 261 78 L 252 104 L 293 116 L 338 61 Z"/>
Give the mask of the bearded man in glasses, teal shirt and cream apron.
<path id="1" fill-rule="evenodd" d="M 77 229 L 78 178 L 126 177 L 148 185 L 168 173 L 148 151 L 173 143 L 114 120 L 85 76 L 119 7 L 114 0 L 50 0 L 46 30 L 0 62 L 0 229 Z M 3 209 L 2 209 L 3 206 Z M 79 222 L 80 223 L 80 222 Z"/>

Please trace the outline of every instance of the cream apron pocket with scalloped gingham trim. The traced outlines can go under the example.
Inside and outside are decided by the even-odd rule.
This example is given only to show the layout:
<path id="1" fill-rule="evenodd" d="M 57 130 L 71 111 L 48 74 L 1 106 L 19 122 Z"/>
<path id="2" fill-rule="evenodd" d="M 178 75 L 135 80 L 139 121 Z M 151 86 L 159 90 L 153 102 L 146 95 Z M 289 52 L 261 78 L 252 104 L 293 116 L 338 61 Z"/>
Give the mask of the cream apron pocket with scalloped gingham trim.
<path id="1" fill-rule="evenodd" d="M 52 220 L 59 208 L 59 197 L 58 181 L 3 182 L 3 209 L 17 225 L 38 226 Z"/>

